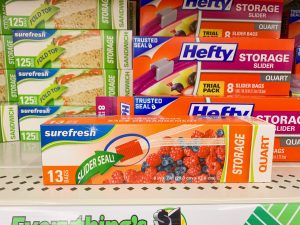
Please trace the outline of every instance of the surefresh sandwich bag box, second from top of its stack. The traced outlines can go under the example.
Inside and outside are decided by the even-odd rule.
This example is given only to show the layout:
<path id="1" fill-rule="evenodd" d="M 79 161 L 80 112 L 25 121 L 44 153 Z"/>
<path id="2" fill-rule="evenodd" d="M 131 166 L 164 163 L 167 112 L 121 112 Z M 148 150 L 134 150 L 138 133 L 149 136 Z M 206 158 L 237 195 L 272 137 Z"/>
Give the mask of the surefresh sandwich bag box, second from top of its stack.
<path id="1" fill-rule="evenodd" d="M 14 30 L 16 68 L 132 69 L 132 32 Z"/>

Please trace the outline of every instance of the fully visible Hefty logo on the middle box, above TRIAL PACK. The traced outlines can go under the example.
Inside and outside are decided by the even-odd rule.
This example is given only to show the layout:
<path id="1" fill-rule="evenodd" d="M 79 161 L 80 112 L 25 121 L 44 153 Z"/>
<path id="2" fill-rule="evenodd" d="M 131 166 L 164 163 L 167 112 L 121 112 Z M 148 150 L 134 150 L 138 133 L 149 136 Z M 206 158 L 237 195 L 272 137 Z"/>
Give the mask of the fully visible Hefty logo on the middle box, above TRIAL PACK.
<path id="1" fill-rule="evenodd" d="M 232 62 L 237 44 L 183 43 L 181 61 Z"/>

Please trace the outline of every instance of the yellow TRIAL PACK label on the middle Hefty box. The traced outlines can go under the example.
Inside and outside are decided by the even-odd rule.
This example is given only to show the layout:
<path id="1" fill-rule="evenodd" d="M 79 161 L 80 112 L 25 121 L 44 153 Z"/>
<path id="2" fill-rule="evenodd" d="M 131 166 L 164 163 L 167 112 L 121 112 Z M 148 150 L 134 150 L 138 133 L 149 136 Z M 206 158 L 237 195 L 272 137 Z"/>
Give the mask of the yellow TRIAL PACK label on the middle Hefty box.
<path id="1" fill-rule="evenodd" d="M 198 96 L 224 96 L 225 84 L 222 81 L 201 81 Z"/>

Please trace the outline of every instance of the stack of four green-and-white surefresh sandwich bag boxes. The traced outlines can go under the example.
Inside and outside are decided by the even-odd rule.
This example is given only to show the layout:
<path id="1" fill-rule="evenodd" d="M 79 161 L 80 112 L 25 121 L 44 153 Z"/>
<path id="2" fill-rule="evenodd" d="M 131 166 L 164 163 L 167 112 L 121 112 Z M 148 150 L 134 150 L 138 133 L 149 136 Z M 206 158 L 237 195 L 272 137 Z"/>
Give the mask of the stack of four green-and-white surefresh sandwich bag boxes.
<path id="1" fill-rule="evenodd" d="M 2 1 L 12 33 L 22 141 L 55 116 L 94 115 L 96 96 L 132 95 L 125 0 Z"/>

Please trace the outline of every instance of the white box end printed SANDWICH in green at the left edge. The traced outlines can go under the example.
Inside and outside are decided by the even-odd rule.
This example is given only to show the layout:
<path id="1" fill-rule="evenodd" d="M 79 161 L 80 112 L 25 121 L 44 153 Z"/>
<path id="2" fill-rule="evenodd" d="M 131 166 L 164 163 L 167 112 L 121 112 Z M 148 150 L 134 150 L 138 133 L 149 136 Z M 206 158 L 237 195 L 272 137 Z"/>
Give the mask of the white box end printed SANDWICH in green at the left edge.
<path id="1" fill-rule="evenodd" d="M 0 142 L 19 141 L 18 106 L 0 103 Z"/>

